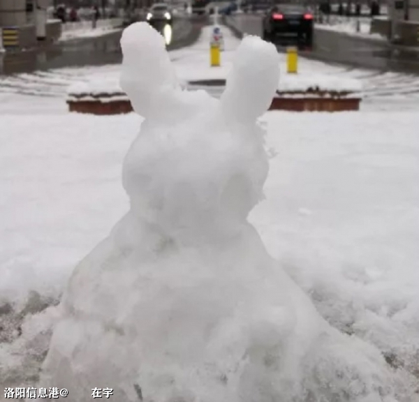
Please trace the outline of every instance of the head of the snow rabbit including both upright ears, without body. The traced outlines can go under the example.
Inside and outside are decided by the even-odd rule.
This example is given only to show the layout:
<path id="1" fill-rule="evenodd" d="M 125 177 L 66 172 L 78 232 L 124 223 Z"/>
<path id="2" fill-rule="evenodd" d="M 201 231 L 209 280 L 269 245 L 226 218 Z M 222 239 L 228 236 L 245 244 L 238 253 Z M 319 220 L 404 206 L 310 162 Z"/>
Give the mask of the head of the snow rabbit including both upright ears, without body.
<path id="1" fill-rule="evenodd" d="M 244 38 L 218 100 L 180 87 L 149 24 L 126 28 L 121 45 L 120 84 L 145 118 L 124 161 L 131 211 L 173 237 L 237 229 L 263 195 L 268 162 L 256 120 L 277 89 L 277 50 Z"/>

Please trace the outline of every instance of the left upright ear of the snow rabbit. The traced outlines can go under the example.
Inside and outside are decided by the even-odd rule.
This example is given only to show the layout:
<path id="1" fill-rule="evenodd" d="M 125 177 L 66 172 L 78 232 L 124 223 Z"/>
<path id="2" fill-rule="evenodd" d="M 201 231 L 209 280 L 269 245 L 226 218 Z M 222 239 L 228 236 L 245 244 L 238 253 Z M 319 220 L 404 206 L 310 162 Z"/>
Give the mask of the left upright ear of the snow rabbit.
<path id="1" fill-rule="evenodd" d="M 123 60 L 119 84 L 135 112 L 147 117 L 154 94 L 165 87 L 177 86 L 165 40 L 147 22 L 136 22 L 124 30 L 121 47 Z"/>

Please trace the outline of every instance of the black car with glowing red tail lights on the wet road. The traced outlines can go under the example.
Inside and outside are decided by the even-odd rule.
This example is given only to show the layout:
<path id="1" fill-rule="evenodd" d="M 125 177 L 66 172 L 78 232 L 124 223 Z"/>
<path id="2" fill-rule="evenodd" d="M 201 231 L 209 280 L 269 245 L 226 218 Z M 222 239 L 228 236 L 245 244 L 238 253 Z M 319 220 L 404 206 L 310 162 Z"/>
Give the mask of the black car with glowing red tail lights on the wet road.
<path id="1" fill-rule="evenodd" d="M 262 22 L 263 39 L 275 45 L 313 47 L 313 15 L 304 6 L 281 4 L 267 10 Z"/>

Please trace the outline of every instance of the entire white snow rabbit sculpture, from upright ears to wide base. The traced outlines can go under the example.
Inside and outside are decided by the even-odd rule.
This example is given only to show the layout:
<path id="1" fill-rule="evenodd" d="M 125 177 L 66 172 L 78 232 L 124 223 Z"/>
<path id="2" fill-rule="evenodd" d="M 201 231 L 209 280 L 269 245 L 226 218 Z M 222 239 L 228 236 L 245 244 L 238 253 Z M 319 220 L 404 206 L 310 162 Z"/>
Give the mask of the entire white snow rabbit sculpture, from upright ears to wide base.
<path id="1" fill-rule="evenodd" d="M 131 209 L 76 267 L 41 387 L 91 400 L 407 402 L 377 348 L 342 334 L 247 221 L 268 156 L 257 119 L 277 50 L 247 36 L 216 100 L 183 91 L 147 23 L 122 36 L 121 87 L 145 117 L 126 155 Z"/>

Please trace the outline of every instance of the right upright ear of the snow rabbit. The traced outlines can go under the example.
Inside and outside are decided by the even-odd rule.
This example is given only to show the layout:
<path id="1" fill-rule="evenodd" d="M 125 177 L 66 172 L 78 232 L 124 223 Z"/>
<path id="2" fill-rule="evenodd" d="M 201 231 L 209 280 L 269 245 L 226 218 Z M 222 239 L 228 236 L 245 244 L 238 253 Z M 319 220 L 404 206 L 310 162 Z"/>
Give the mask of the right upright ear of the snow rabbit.
<path id="1" fill-rule="evenodd" d="M 265 113 L 279 84 L 279 54 L 272 43 L 246 36 L 237 47 L 221 96 L 228 119 L 254 121 Z"/>

